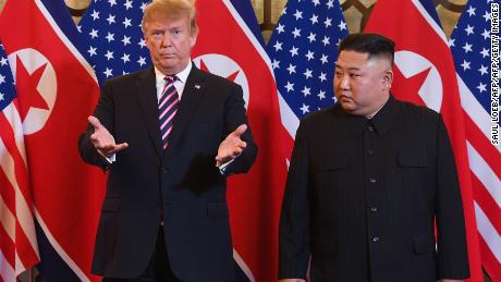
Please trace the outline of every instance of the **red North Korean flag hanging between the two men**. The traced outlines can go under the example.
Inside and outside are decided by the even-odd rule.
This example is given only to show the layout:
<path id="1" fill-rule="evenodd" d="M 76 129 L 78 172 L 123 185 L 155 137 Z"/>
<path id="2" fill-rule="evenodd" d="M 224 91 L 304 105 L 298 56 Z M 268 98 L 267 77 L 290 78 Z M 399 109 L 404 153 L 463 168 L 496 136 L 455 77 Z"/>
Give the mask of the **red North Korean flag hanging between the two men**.
<path id="1" fill-rule="evenodd" d="M 271 63 L 230 1 L 197 1 L 197 11 L 200 33 L 193 51 L 194 61 L 201 70 L 242 86 L 249 125 L 259 148 L 249 173 L 229 179 L 234 258 L 249 281 L 274 281 L 286 162 L 281 148 L 283 127 Z"/>

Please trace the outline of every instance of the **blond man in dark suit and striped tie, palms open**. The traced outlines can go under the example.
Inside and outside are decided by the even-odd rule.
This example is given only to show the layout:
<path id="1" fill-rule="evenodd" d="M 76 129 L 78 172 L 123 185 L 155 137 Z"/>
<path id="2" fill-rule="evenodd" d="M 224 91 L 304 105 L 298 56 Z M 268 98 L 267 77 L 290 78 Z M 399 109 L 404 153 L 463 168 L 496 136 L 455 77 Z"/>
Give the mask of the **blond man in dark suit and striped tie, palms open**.
<path id="1" fill-rule="evenodd" d="M 101 89 L 80 140 L 108 170 L 93 272 L 105 281 L 232 281 L 225 175 L 257 148 L 242 88 L 191 62 L 191 0 L 155 0 L 143 32 L 154 68 Z"/>

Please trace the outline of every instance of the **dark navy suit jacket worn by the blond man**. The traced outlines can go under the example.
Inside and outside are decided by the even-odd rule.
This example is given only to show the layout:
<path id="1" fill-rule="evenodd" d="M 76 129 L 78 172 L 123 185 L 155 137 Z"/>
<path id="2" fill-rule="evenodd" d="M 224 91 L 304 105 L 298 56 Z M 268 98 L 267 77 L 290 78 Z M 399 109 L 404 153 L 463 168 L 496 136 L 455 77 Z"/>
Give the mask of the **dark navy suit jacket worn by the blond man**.
<path id="1" fill-rule="evenodd" d="M 82 158 L 109 169 L 96 237 L 93 272 L 135 278 L 155 249 L 161 217 L 174 274 L 183 281 L 233 280 L 232 243 L 225 176 L 215 167 L 220 143 L 247 123 L 242 88 L 193 66 L 162 149 L 154 69 L 109 81 L 94 115 L 115 142 L 129 143 L 108 168 L 89 140 L 80 140 Z M 247 148 L 225 174 L 249 170 L 257 148 L 249 130 Z"/>

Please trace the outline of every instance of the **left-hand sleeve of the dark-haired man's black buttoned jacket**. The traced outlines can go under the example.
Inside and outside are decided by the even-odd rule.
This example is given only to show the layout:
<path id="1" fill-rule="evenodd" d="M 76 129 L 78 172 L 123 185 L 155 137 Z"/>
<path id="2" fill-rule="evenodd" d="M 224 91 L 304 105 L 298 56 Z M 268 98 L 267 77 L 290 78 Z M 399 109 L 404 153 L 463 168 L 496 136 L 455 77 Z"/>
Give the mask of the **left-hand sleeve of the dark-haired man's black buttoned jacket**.
<path id="1" fill-rule="evenodd" d="M 279 279 L 304 279 L 309 248 L 309 160 L 303 122 L 296 133 L 282 201 L 279 230 Z"/>

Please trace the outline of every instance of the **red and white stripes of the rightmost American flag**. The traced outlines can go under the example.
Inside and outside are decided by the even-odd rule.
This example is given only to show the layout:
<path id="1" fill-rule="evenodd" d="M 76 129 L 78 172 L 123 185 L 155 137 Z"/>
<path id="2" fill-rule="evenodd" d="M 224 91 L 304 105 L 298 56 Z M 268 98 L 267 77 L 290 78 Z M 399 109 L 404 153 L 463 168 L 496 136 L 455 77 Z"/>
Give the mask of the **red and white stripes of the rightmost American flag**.
<path id="1" fill-rule="evenodd" d="M 488 113 L 459 77 L 465 117 L 466 148 L 484 268 L 501 281 L 501 147 L 490 144 Z M 486 117 L 487 115 L 487 117 Z"/>

